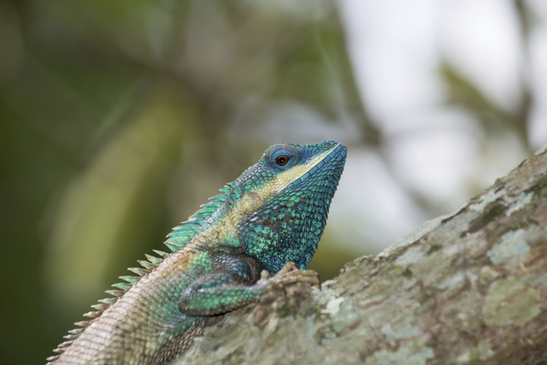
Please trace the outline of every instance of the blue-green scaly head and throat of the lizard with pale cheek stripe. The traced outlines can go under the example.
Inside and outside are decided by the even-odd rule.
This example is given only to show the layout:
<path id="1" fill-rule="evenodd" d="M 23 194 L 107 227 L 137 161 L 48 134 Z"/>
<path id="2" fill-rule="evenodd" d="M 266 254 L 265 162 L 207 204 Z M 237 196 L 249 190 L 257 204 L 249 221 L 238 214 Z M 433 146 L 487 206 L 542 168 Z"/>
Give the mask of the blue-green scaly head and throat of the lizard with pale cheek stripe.
<path id="1" fill-rule="evenodd" d="M 307 267 L 323 234 L 346 147 L 327 140 L 269 147 L 232 185 L 226 203 L 243 251 L 272 274 Z"/>

